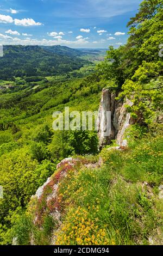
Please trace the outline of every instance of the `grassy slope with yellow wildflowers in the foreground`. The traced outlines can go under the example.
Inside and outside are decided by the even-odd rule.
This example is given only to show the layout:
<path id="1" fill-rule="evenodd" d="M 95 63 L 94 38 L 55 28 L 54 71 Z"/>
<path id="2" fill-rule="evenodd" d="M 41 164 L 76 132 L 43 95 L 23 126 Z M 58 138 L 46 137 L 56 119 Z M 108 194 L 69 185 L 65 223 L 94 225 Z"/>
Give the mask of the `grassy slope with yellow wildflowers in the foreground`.
<path id="1" fill-rule="evenodd" d="M 96 157 L 78 156 L 74 167 L 66 164 L 53 176 L 67 170 L 67 176 L 59 180 L 53 204 L 45 203 L 52 192 L 48 187 L 39 201 L 30 202 L 14 228 L 18 241 L 28 244 L 33 231 L 38 245 L 54 240 L 57 245 L 161 244 L 163 208 L 158 187 L 163 179 L 162 151 L 163 137 L 158 135 L 133 141 L 122 151 L 105 148 Z M 50 216 L 53 205 L 61 211 L 59 229 Z M 39 219 L 33 225 L 36 215 Z"/>

